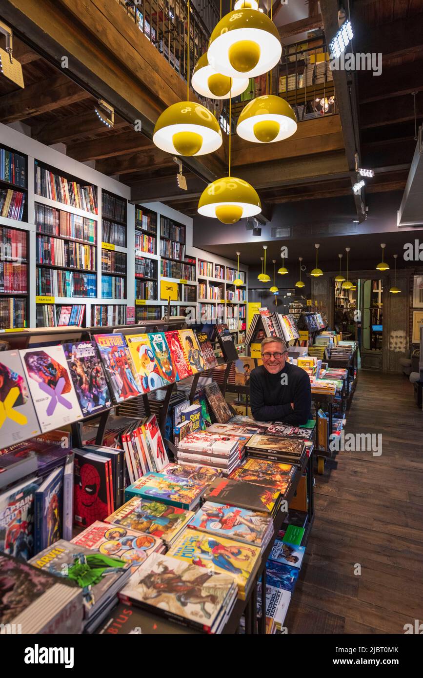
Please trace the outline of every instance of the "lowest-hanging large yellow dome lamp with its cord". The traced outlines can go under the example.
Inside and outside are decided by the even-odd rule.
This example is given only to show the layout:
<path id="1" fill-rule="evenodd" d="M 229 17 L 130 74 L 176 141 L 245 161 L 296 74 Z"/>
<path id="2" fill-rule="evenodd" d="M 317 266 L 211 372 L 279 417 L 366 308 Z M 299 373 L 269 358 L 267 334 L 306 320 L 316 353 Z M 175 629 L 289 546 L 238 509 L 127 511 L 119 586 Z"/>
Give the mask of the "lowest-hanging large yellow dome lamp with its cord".
<path id="1" fill-rule="evenodd" d="M 217 218 L 222 224 L 235 224 L 243 217 L 256 216 L 262 203 L 254 188 L 243 179 L 230 176 L 232 106 L 229 99 L 229 176 L 216 179 L 205 188 L 197 210 L 203 216 Z"/>

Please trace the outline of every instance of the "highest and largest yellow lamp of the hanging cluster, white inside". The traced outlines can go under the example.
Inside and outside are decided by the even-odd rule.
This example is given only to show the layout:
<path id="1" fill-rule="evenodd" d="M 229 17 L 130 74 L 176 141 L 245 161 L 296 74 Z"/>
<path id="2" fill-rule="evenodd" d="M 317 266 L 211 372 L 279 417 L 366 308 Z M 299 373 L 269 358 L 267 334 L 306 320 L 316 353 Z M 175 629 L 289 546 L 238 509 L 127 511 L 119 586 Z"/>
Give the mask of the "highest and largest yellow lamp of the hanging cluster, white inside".
<path id="1" fill-rule="evenodd" d="M 235 9 L 214 28 L 207 49 L 210 66 L 233 78 L 256 77 L 281 58 L 277 27 L 257 9 Z"/>

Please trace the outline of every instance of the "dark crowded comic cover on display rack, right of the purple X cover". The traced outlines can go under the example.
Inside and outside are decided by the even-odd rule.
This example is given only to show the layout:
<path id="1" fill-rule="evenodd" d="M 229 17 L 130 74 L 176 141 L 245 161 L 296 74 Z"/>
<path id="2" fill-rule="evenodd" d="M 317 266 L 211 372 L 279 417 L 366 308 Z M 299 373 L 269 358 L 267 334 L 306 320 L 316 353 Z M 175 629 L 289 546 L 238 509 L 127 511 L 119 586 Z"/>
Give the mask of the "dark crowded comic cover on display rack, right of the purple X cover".
<path id="1" fill-rule="evenodd" d="M 96 342 L 64 344 L 63 348 L 83 416 L 107 410 L 112 401 Z"/>

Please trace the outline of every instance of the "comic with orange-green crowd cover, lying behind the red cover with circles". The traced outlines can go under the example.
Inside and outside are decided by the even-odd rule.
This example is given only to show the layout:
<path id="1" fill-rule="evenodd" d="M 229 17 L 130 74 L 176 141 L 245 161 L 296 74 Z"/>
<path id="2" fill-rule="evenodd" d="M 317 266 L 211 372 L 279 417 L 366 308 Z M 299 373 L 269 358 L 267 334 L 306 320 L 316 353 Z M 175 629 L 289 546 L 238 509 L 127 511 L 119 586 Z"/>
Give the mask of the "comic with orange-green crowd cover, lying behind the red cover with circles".
<path id="1" fill-rule="evenodd" d="M 193 515 L 192 511 L 184 511 L 176 506 L 132 497 L 105 520 L 131 530 L 152 534 L 170 544 Z"/>

